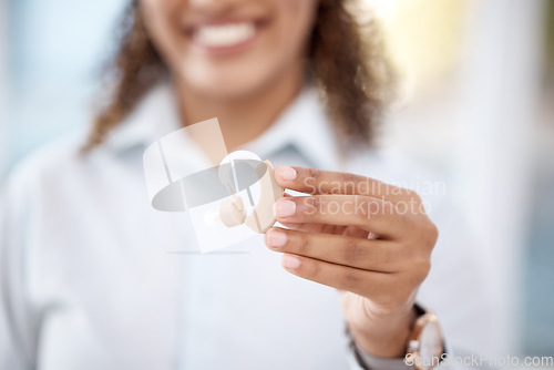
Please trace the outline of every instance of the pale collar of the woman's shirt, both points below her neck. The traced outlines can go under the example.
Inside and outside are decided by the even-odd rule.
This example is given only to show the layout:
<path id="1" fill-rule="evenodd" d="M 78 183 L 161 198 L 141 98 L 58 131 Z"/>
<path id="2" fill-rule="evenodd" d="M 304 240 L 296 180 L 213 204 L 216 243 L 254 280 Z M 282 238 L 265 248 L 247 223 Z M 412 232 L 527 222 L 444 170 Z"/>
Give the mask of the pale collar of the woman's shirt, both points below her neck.
<path id="1" fill-rule="evenodd" d="M 146 147 L 179 127 L 175 94 L 171 83 L 164 82 L 110 133 L 105 145 L 116 153 Z M 307 85 L 266 132 L 243 148 L 266 158 L 291 145 L 315 167 L 336 169 L 340 156 L 335 134 L 317 89 Z"/>

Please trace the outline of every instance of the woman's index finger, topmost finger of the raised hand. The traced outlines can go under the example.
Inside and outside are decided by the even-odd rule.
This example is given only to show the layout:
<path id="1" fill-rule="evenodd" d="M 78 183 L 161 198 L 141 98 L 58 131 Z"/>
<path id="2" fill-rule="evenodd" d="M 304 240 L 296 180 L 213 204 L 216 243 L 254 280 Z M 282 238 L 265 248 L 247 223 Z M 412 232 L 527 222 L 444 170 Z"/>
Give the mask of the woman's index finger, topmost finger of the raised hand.
<path id="1" fill-rule="evenodd" d="M 305 167 L 278 166 L 275 179 L 286 188 L 316 194 L 366 195 L 386 201 L 403 198 L 408 191 L 356 174 Z"/>

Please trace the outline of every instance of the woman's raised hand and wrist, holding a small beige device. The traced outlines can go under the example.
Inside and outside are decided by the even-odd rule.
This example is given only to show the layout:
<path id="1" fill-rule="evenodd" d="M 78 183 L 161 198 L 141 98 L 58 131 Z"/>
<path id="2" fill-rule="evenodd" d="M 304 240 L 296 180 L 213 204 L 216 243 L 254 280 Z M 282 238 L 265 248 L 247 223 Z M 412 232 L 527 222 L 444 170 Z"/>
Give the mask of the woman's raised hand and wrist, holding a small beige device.
<path id="1" fill-rule="evenodd" d="M 283 187 L 309 196 L 279 199 L 266 233 L 283 266 L 337 288 L 356 343 L 379 357 L 403 357 L 414 299 L 431 266 L 438 230 L 411 191 L 352 174 L 277 167 Z"/>

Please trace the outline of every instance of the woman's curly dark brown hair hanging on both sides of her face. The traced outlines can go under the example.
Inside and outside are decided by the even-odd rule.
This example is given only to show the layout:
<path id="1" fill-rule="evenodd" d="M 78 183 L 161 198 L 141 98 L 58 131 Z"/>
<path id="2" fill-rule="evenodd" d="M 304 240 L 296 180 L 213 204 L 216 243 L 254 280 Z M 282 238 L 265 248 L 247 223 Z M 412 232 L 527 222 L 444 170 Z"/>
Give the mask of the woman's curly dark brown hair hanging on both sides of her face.
<path id="1" fill-rule="evenodd" d="M 393 96 L 394 73 L 373 17 L 360 22 L 356 0 L 320 0 L 307 48 L 306 76 L 315 81 L 334 123 L 350 143 L 370 144 Z M 114 56 L 103 70 L 111 92 L 101 104 L 84 151 L 100 145 L 144 94 L 167 74 L 151 42 L 137 0 L 125 10 Z M 103 94 L 105 96 L 105 94 Z"/>

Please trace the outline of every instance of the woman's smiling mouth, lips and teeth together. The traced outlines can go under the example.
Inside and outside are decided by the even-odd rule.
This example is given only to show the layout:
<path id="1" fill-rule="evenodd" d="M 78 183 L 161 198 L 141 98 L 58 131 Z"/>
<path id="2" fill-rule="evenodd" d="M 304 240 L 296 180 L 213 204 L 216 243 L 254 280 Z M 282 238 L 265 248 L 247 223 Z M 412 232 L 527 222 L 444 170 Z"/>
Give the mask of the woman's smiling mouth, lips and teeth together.
<path id="1" fill-rule="evenodd" d="M 234 51 L 249 44 L 259 33 L 264 22 L 229 21 L 199 24 L 188 30 L 192 42 L 208 51 Z"/>

